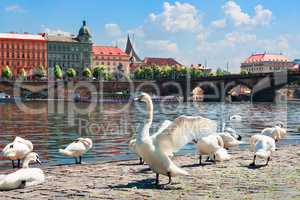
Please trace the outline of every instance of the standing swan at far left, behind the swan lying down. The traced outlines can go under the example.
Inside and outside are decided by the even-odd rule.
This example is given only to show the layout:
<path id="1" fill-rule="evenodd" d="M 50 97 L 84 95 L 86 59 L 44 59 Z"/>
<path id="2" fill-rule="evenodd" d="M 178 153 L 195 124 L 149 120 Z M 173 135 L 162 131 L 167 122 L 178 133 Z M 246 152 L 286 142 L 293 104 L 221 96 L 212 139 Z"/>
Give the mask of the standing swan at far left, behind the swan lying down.
<path id="1" fill-rule="evenodd" d="M 25 140 L 21 137 L 16 137 L 12 143 L 9 143 L 2 150 L 3 156 L 9 158 L 12 161 L 12 166 L 15 168 L 14 161 L 18 161 L 17 167 L 20 168 L 20 161 L 33 150 L 33 145 L 29 140 Z"/>

